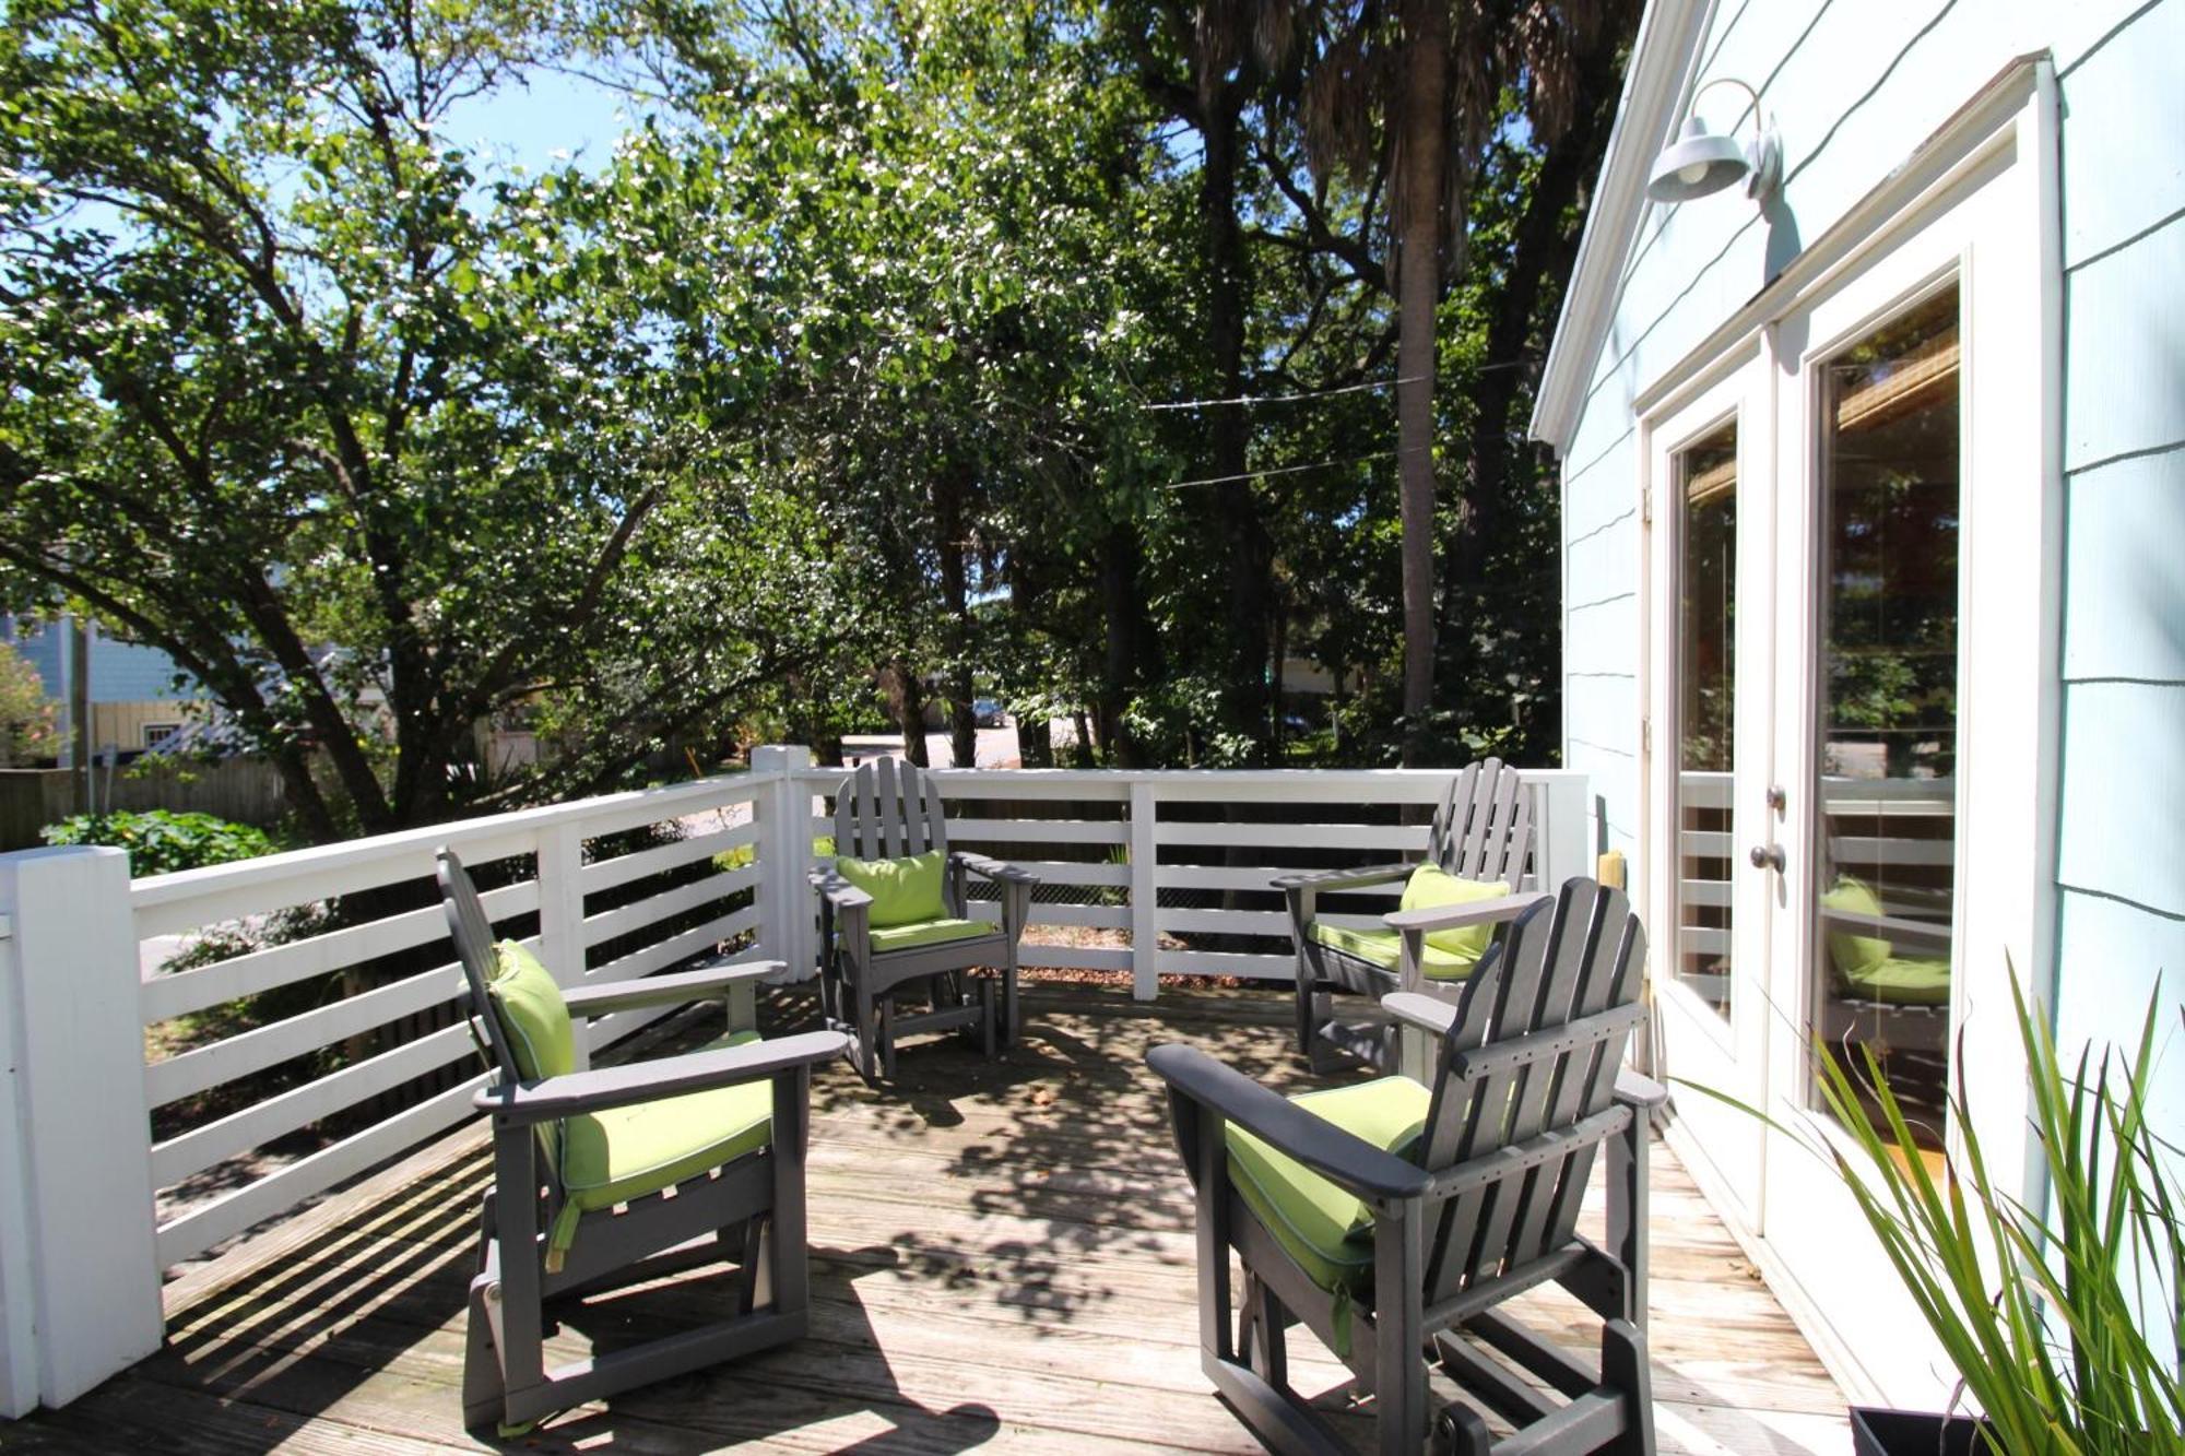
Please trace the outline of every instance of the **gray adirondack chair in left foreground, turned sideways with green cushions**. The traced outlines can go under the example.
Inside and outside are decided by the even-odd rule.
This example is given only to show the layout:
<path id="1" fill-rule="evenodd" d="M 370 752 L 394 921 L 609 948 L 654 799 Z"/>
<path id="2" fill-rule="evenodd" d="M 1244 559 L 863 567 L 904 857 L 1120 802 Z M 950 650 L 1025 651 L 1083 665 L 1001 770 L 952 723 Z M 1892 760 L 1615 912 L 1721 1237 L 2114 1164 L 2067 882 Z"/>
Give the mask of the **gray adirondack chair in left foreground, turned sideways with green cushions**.
<path id="1" fill-rule="evenodd" d="M 804 1137 L 811 1069 L 839 1032 L 760 1041 L 756 977 L 780 962 L 653 975 L 568 993 L 494 944 L 463 864 L 439 850 L 439 890 L 470 986 L 472 1034 L 494 1080 L 479 1272 L 470 1281 L 463 1421 L 518 1434 L 540 1417 L 804 1336 Z M 701 1052 L 579 1071 L 586 1019 L 719 999 L 730 1034 Z M 634 1167 L 631 1167 L 634 1163 Z M 562 1369 L 544 1364 L 546 1301 L 725 1259 L 734 1314 Z"/>

